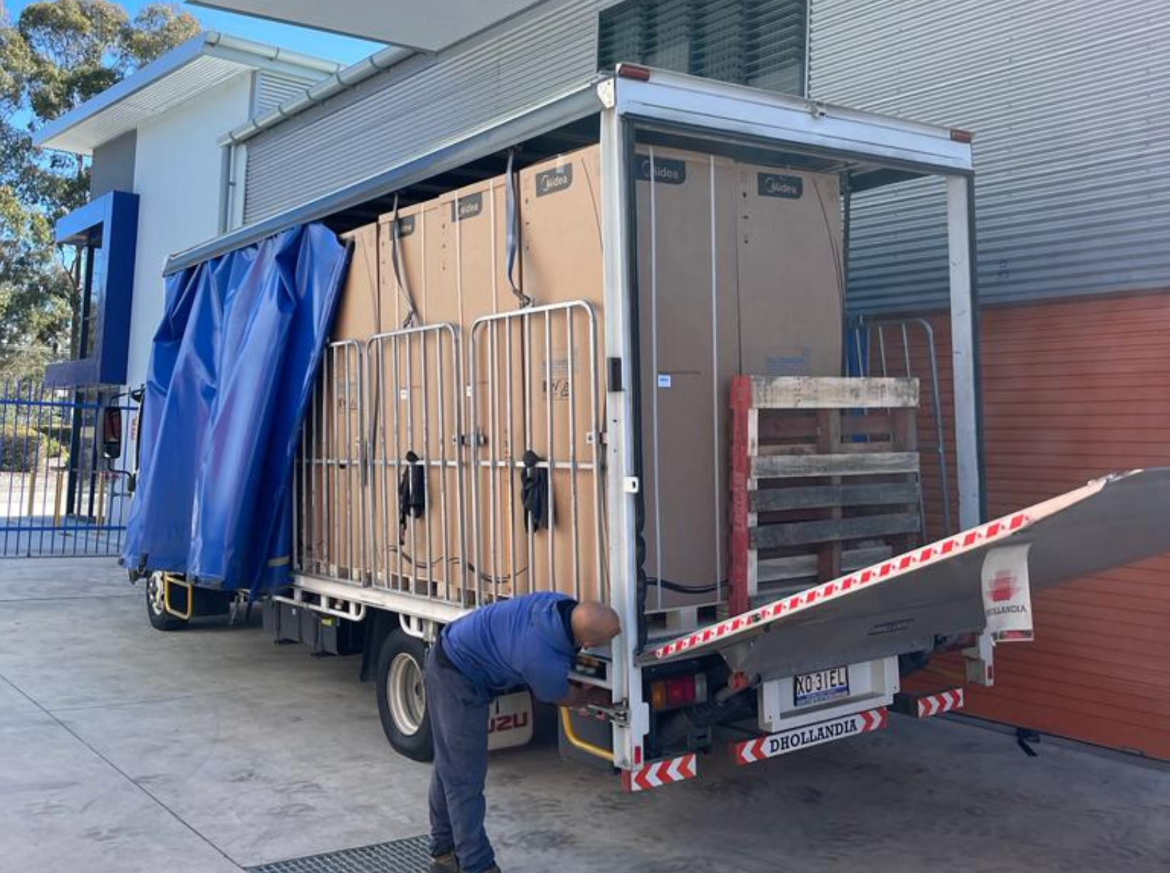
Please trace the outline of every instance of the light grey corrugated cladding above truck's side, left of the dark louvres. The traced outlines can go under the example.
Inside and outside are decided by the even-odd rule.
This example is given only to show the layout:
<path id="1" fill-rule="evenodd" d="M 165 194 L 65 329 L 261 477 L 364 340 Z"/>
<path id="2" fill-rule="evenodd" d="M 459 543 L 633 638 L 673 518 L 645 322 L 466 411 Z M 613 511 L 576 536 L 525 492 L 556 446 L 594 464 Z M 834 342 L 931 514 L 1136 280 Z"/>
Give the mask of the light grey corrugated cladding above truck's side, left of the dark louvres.
<path id="1" fill-rule="evenodd" d="M 252 224 L 579 84 L 597 67 L 601 0 L 542 4 L 440 53 L 378 74 L 352 94 L 247 144 Z"/>

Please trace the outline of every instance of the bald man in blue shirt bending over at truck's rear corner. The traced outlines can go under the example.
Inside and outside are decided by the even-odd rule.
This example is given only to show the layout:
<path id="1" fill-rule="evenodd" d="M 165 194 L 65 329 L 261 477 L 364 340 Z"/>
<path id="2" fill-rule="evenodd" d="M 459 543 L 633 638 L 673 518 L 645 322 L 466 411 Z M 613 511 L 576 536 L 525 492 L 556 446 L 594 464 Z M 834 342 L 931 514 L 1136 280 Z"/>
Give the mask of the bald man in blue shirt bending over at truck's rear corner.
<path id="1" fill-rule="evenodd" d="M 431 873 L 500 873 L 483 830 L 488 706 L 528 686 L 537 699 L 580 708 L 608 703 L 569 681 L 577 651 L 618 635 L 618 613 L 565 594 L 526 594 L 483 606 L 443 628 L 427 657 L 435 761 L 431 772 Z"/>

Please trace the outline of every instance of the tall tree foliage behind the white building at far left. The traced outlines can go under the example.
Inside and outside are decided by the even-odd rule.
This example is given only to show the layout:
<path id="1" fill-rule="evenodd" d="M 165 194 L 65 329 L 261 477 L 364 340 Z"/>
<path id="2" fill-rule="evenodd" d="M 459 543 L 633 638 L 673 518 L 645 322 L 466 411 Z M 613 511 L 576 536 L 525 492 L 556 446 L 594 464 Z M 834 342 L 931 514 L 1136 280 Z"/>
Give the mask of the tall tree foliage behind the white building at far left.
<path id="1" fill-rule="evenodd" d="M 0 380 L 37 378 L 77 344 L 76 264 L 53 225 L 85 202 L 89 167 L 34 149 L 33 131 L 198 33 L 170 4 L 130 19 L 108 0 L 50 0 L 13 23 L 0 0 Z"/>

